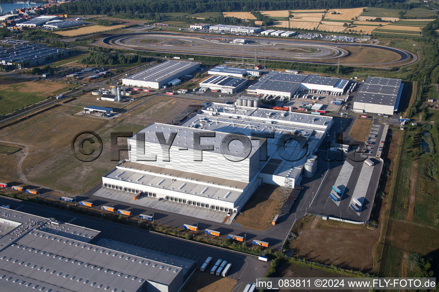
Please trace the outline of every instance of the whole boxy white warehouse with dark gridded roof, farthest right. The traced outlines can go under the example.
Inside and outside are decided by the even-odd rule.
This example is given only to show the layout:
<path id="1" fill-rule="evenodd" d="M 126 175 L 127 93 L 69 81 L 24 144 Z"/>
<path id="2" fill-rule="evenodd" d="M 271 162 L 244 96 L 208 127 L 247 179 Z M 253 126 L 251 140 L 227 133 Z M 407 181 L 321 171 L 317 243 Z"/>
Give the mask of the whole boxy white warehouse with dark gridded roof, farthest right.
<path id="1" fill-rule="evenodd" d="M 367 77 L 354 100 L 353 109 L 393 115 L 398 110 L 402 91 L 401 79 Z"/>

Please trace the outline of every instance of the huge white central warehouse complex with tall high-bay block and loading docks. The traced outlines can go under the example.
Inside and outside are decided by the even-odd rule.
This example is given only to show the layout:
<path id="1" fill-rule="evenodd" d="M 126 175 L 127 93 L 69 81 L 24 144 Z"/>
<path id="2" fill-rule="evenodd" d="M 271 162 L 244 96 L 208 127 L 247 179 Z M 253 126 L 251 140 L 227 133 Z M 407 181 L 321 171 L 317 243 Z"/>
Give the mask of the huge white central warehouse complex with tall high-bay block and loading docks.
<path id="1" fill-rule="evenodd" d="M 103 176 L 102 191 L 237 212 L 262 182 L 291 187 L 315 171 L 305 163 L 331 124 L 330 116 L 210 103 L 180 126 L 152 123 L 129 138 L 129 159 Z"/>

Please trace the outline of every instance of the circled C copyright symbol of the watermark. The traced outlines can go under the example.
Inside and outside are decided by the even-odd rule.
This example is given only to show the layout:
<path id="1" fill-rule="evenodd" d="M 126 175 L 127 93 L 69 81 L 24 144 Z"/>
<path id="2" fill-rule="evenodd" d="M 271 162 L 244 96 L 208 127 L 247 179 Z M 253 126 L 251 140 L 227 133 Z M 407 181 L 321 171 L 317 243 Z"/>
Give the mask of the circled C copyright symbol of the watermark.
<path id="1" fill-rule="evenodd" d="M 96 160 L 101 155 L 103 148 L 101 136 L 93 131 L 80 132 L 72 140 L 73 155 L 82 162 Z"/>

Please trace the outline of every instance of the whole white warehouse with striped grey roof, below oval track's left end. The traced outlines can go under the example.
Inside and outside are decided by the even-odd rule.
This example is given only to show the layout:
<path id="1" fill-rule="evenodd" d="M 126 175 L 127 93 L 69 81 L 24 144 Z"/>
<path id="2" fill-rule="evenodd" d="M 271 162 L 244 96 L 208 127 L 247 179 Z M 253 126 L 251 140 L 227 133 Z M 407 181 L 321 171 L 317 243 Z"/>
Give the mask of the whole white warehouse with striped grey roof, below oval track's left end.
<path id="1" fill-rule="evenodd" d="M 169 81 L 194 72 L 200 67 L 199 63 L 164 61 L 153 67 L 122 78 L 122 84 L 128 86 L 161 88 Z"/>

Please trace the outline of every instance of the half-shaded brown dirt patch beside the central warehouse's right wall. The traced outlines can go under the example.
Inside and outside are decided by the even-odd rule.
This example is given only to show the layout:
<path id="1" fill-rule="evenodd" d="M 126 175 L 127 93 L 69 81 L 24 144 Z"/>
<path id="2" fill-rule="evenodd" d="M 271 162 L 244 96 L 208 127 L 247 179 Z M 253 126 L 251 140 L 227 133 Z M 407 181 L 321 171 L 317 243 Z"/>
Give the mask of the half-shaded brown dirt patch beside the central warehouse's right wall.
<path id="1" fill-rule="evenodd" d="M 266 230 L 271 226 L 271 221 L 281 208 L 281 200 L 288 196 L 291 190 L 282 187 L 262 184 L 252 195 L 250 200 L 237 215 L 234 223 L 253 230 Z M 258 220 L 255 220 L 258 218 Z"/>

